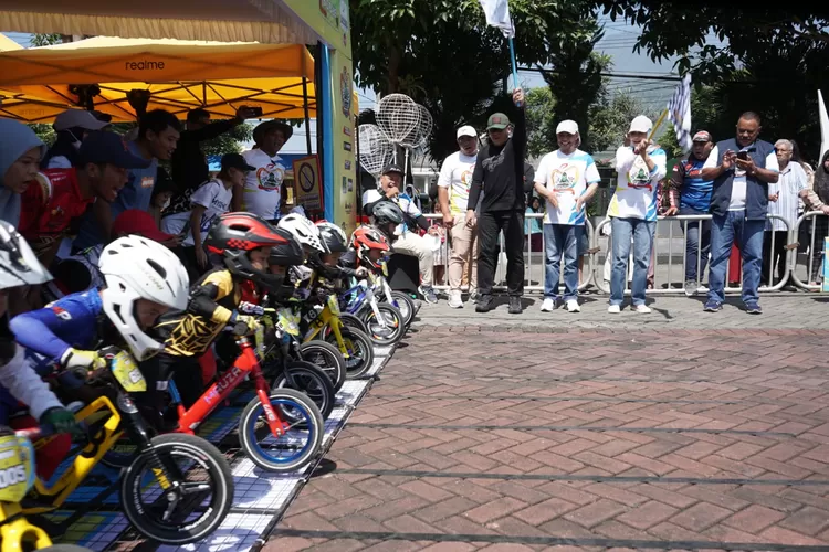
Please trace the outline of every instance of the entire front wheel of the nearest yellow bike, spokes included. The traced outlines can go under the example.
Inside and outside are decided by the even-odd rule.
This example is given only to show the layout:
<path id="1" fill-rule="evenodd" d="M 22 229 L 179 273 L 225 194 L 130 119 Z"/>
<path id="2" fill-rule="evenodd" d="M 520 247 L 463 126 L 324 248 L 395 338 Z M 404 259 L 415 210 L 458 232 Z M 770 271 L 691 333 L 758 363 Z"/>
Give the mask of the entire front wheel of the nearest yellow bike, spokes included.
<path id="1" fill-rule="evenodd" d="M 151 449 L 136 457 L 124 473 L 120 505 L 139 533 L 164 544 L 188 544 L 204 539 L 221 524 L 233 502 L 233 476 L 228 459 L 213 445 L 186 434 L 150 439 Z M 180 486 L 145 491 L 156 481 L 160 458 L 175 467 Z M 167 481 L 169 485 L 169 481 Z M 170 511 L 170 508 L 175 510 Z"/>

